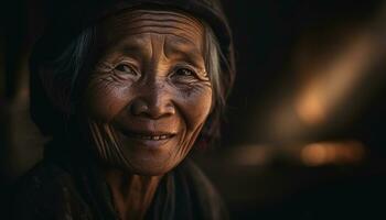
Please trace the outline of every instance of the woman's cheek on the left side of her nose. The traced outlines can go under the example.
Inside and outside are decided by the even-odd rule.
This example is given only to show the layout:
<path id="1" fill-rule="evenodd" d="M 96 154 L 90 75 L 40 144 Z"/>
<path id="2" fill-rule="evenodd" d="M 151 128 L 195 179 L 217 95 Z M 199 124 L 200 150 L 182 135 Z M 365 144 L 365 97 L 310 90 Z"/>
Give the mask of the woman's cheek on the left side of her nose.
<path id="1" fill-rule="evenodd" d="M 128 87 L 89 84 L 84 94 L 86 113 L 100 121 L 112 120 L 129 102 Z"/>

